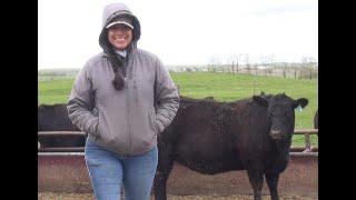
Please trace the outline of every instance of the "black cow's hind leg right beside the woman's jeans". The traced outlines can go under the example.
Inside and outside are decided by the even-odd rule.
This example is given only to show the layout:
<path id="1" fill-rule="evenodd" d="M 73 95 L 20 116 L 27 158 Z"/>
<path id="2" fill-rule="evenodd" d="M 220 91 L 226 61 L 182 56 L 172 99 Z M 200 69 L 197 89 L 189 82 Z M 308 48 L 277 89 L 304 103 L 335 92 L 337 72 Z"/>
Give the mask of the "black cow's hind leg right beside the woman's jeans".
<path id="1" fill-rule="evenodd" d="M 174 166 L 174 151 L 171 146 L 158 146 L 158 167 L 156 171 L 154 190 L 156 200 L 167 200 L 167 179 Z"/>

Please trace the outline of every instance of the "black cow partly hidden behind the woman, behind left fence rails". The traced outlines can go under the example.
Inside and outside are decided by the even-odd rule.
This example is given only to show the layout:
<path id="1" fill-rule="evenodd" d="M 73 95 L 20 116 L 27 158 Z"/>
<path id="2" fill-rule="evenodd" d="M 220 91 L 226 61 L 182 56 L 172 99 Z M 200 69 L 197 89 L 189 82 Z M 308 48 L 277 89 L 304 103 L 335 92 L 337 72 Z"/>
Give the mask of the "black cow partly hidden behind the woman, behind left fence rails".
<path id="1" fill-rule="evenodd" d="M 38 131 L 80 131 L 68 118 L 66 103 L 38 107 Z M 86 137 L 39 137 L 41 148 L 83 147 Z"/>

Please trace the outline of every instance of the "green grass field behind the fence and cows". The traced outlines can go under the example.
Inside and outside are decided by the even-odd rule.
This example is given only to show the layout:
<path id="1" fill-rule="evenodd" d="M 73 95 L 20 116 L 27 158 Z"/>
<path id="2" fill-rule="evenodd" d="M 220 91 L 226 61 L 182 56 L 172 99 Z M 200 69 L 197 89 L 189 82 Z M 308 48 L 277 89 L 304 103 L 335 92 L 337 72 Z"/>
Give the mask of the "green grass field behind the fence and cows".
<path id="1" fill-rule="evenodd" d="M 214 72 L 172 72 L 171 77 L 179 86 L 180 94 L 192 98 L 212 96 L 219 101 L 234 101 L 253 94 L 286 92 L 298 99 L 307 98 L 309 103 L 301 112 L 296 111 L 296 129 L 313 128 L 313 118 L 318 108 L 317 80 L 284 79 L 251 74 Z M 39 103 L 66 103 L 73 83 L 73 78 L 39 78 Z M 312 146 L 317 146 L 317 137 L 312 136 Z M 294 136 L 293 146 L 304 146 L 304 136 Z"/>

